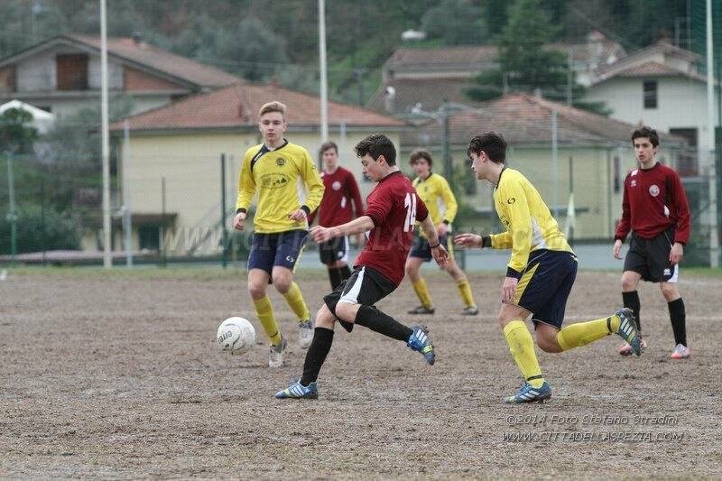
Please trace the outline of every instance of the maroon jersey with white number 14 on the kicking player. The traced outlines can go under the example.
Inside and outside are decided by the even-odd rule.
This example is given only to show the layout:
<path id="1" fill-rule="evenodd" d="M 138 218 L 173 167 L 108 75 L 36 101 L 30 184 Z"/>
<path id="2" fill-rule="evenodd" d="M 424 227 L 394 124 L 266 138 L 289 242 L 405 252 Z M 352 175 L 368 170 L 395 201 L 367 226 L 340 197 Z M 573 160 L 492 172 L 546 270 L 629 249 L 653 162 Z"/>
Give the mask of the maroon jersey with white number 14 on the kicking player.
<path id="1" fill-rule="evenodd" d="M 354 266 L 371 267 L 398 286 L 412 246 L 413 227 L 429 211 L 416 195 L 412 181 L 400 171 L 384 177 L 368 194 L 366 203 L 366 216 L 374 221 L 374 228 Z"/>

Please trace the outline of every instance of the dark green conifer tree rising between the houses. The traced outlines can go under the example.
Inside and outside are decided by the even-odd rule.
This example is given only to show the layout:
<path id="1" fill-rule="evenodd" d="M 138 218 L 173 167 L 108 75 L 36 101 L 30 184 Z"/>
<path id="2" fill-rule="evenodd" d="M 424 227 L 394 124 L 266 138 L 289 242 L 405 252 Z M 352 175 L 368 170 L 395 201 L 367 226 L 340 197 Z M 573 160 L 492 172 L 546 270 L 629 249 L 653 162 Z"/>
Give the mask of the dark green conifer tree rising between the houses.
<path id="1" fill-rule="evenodd" d="M 570 75 L 567 55 L 547 47 L 558 30 L 540 0 L 517 0 L 497 40 L 499 68 L 479 75 L 477 87 L 469 88 L 468 97 L 484 101 L 501 97 L 505 92 L 541 91 L 544 97 L 564 100 L 570 81 L 572 98 L 580 98 L 584 88 Z M 575 105 L 600 115 L 608 114 L 601 103 Z"/>

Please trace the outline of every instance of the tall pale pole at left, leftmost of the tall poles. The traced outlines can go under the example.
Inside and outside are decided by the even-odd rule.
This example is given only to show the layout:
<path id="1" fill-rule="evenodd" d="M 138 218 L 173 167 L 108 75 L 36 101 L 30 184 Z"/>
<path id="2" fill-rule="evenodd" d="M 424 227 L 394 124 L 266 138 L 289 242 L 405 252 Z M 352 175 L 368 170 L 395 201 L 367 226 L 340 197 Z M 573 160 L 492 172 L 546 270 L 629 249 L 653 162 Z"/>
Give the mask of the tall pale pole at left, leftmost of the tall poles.
<path id="1" fill-rule="evenodd" d="M 113 266 L 110 252 L 110 137 L 107 115 L 106 0 L 100 0 L 100 116 L 103 155 L 103 267 Z"/>

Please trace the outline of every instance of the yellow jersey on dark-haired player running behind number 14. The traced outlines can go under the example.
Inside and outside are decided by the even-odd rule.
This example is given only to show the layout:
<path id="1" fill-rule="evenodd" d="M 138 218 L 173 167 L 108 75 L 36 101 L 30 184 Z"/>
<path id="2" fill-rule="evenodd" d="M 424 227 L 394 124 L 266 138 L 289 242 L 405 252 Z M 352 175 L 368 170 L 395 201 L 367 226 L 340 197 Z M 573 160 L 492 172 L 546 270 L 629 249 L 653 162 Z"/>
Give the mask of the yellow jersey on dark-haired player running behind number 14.
<path id="1" fill-rule="evenodd" d="M 512 249 L 508 267 L 515 273 L 523 271 L 532 251 L 574 252 L 539 191 L 522 172 L 504 167 L 494 190 L 494 205 L 506 232 L 490 236 L 491 246 Z"/>

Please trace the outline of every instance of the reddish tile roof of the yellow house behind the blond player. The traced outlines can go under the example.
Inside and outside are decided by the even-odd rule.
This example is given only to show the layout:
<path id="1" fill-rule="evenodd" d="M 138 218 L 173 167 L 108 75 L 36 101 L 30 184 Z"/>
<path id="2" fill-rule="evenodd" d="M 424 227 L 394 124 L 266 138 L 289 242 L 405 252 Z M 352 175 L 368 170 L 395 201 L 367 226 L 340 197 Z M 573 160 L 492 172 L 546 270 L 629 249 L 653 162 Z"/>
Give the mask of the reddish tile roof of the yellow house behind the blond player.
<path id="1" fill-rule="evenodd" d="M 287 121 L 293 127 L 317 127 L 320 124 L 319 97 L 288 88 L 236 83 L 213 92 L 197 94 L 154 110 L 128 117 L 131 130 L 214 129 L 255 127 L 258 110 L 272 100 L 288 106 Z M 403 127 L 391 116 L 363 107 L 329 101 L 329 124 L 348 126 Z M 122 129 L 116 122 L 111 129 Z"/>

